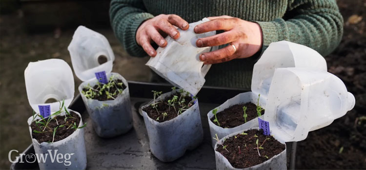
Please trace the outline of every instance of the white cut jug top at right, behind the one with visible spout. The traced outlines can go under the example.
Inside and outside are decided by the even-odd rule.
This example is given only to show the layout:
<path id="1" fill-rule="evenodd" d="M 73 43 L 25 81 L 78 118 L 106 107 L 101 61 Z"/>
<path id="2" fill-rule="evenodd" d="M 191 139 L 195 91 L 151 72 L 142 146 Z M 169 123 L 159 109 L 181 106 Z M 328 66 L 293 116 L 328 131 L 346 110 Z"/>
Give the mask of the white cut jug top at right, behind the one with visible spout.
<path id="1" fill-rule="evenodd" d="M 314 68 L 326 71 L 326 62 L 317 51 L 289 41 L 269 44 L 253 68 L 252 92 L 267 98 L 276 68 Z"/>

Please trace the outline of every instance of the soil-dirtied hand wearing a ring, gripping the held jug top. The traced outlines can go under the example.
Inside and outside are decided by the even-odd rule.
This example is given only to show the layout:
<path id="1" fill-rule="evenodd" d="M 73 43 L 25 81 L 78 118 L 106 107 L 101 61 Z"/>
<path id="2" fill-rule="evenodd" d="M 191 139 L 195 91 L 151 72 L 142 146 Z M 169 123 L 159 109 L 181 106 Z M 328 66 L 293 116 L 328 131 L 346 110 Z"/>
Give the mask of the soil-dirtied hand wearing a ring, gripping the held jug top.
<path id="1" fill-rule="evenodd" d="M 262 29 L 255 22 L 245 21 L 236 17 L 220 16 L 208 17 L 210 21 L 197 25 L 197 34 L 216 30 L 224 30 L 222 34 L 200 38 L 197 47 L 212 47 L 229 43 L 228 46 L 216 51 L 200 55 L 203 64 L 216 64 L 235 58 L 247 58 L 254 55 L 262 47 Z M 233 47 L 235 46 L 235 48 Z"/>

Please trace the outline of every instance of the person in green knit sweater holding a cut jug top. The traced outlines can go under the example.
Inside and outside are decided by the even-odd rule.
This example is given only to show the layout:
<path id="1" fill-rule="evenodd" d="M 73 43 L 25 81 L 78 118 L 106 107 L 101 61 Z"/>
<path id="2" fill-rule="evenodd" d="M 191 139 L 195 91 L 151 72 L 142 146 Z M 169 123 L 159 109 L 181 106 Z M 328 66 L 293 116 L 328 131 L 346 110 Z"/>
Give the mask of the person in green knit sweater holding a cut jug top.
<path id="1" fill-rule="evenodd" d="M 153 46 L 165 47 L 164 36 L 177 39 L 179 29 L 208 17 L 194 32 L 221 32 L 196 45 L 221 45 L 200 60 L 213 64 L 205 85 L 222 87 L 250 89 L 254 63 L 272 42 L 291 41 L 325 56 L 343 34 L 335 0 L 111 0 L 109 13 L 124 49 L 139 57 L 156 56 Z"/>

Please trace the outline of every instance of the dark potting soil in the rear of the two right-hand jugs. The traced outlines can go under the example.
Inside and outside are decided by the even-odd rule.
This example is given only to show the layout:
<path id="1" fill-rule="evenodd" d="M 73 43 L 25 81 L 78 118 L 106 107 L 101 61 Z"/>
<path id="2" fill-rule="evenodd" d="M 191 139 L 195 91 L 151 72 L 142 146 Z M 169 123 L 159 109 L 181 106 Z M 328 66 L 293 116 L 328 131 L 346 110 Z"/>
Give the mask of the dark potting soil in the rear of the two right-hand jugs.
<path id="1" fill-rule="evenodd" d="M 243 103 L 243 104 L 235 104 L 235 105 L 230 106 L 229 108 L 224 109 L 221 112 L 216 113 L 216 117 L 219 120 L 220 127 L 234 128 L 234 127 L 244 124 L 243 106 L 246 106 L 245 112 L 248 115 L 248 117 L 246 118 L 246 122 L 258 117 L 257 105 L 255 105 L 251 102 L 247 102 L 247 103 Z M 262 110 L 262 115 L 263 114 L 264 114 L 264 110 Z M 215 117 L 212 117 L 211 121 L 213 123 L 215 123 L 216 125 L 218 125 L 217 122 L 213 121 L 214 119 L 215 119 Z"/>

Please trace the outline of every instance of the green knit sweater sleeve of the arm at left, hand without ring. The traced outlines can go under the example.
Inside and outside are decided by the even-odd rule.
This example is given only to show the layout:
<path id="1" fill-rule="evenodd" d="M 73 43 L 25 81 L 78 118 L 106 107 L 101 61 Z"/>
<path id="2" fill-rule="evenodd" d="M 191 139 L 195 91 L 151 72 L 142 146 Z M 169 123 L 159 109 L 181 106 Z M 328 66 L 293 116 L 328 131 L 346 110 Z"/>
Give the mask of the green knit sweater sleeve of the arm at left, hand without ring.
<path id="1" fill-rule="evenodd" d="M 136 31 L 143 21 L 154 16 L 146 13 L 142 0 L 111 0 L 109 17 L 114 34 L 124 49 L 132 56 L 146 56 L 136 42 Z"/>

